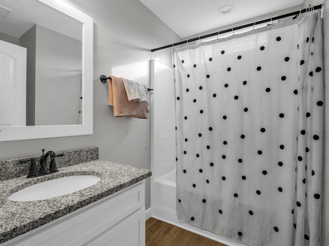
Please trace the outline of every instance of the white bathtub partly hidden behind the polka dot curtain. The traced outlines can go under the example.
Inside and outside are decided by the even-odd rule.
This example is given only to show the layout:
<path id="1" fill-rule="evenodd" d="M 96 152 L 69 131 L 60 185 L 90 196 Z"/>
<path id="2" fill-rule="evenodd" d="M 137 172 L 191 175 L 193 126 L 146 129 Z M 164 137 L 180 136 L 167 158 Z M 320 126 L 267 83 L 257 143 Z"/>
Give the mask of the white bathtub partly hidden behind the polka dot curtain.
<path id="1" fill-rule="evenodd" d="M 178 221 L 176 216 L 176 170 L 153 180 L 152 217 L 228 246 L 246 246 L 221 235 Z"/>

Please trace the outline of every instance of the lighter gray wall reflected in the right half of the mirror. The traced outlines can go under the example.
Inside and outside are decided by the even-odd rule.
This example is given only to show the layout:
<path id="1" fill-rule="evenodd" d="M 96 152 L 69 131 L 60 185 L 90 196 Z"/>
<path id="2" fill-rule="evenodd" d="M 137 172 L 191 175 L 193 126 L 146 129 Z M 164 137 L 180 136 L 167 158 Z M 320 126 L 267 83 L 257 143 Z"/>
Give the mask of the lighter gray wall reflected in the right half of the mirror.
<path id="1" fill-rule="evenodd" d="M 81 79 L 82 42 L 36 25 L 35 126 L 79 124 Z"/>

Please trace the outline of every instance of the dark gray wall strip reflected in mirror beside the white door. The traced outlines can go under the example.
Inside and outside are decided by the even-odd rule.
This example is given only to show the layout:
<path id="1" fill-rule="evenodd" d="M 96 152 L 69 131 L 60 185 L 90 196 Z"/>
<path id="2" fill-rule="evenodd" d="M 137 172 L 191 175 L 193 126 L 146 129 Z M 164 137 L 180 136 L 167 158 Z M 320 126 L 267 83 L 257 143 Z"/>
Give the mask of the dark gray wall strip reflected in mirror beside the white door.
<path id="1" fill-rule="evenodd" d="M 35 47 L 36 25 L 20 37 L 20 46 L 27 49 L 26 53 L 26 125 L 35 125 Z"/>

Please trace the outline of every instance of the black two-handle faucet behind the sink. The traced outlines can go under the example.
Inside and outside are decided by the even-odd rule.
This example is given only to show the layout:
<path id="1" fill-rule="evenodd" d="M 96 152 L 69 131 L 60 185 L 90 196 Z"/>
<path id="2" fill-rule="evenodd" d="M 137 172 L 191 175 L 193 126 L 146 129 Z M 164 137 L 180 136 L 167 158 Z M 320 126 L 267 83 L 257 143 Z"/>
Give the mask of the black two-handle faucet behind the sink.
<path id="1" fill-rule="evenodd" d="M 35 159 L 34 158 L 31 158 L 29 160 L 20 161 L 20 163 L 31 162 L 30 169 L 29 169 L 29 174 L 27 175 L 27 178 L 34 178 L 34 177 L 39 177 L 39 176 L 42 176 L 42 175 L 58 172 L 55 158 L 58 157 L 58 156 L 64 156 L 64 154 L 55 154 L 53 151 L 48 151 L 46 154 L 44 154 L 44 152 L 45 152 L 45 149 L 42 149 L 42 156 L 40 158 L 41 168 L 39 169 L 39 172 L 36 171 Z M 50 165 L 49 165 L 49 169 L 48 169 L 46 167 L 46 165 L 47 165 L 47 158 L 48 158 L 49 155 L 50 155 L 51 160 L 50 160 Z"/>

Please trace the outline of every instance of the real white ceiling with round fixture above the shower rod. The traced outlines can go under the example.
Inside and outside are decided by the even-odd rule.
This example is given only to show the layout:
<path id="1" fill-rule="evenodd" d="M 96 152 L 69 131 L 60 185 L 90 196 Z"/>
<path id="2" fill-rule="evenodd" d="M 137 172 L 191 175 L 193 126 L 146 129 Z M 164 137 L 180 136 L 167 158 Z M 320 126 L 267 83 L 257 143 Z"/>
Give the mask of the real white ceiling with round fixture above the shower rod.
<path id="1" fill-rule="evenodd" d="M 181 38 L 303 4 L 304 0 L 140 0 Z M 223 5 L 228 14 L 218 14 Z"/>

